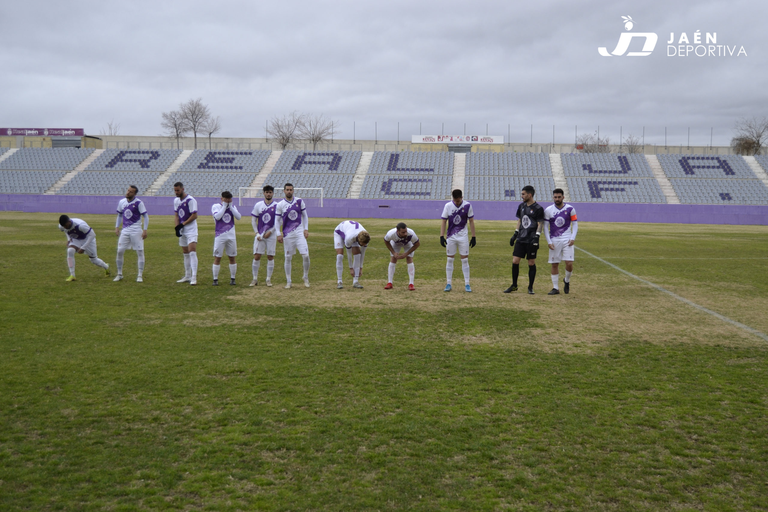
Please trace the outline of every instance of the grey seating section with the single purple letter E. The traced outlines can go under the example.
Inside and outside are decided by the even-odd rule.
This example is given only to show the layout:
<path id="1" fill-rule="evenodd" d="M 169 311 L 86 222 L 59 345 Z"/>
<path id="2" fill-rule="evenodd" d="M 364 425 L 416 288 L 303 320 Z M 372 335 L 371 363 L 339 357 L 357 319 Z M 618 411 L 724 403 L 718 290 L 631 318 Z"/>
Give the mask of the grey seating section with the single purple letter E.
<path id="1" fill-rule="evenodd" d="M 250 186 L 269 156 L 270 150 L 194 150 L 157 195 L 172 196 L 173 184 L 180 181 L 193 196 L 217 197 L 223 190 L 237 196 L 240 187 Z"/>

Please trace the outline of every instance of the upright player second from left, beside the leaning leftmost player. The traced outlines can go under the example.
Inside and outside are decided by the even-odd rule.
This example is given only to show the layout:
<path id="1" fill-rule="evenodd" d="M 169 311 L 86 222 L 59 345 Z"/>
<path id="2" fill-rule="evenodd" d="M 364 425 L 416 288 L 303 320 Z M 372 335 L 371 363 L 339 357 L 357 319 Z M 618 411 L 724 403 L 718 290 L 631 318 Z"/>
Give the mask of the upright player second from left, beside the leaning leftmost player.
<path id="1" fill-rule="evenodd" d="M 118 257 L 115 262 L 118 265 L 118 275 L 114 276 L 113 281 L 123 280 L 125 251 L 134 249 L 139 267 L 136 282 L 144 282 L 144 239 L 147 238 L 149 214 L 144 202 L 136 198 L 138 192 L 136 185 L 130 185 L 125 192 L 125 199 L 121 199 L 118 203 L 118 218 L 114 221 L 114 234 L 120 237 L 118 238 Z"/>

